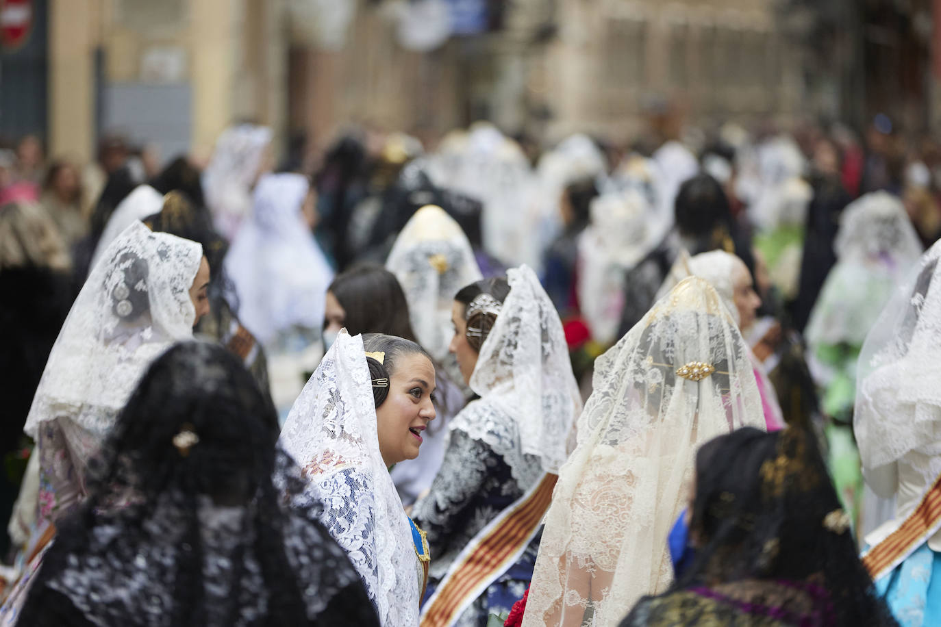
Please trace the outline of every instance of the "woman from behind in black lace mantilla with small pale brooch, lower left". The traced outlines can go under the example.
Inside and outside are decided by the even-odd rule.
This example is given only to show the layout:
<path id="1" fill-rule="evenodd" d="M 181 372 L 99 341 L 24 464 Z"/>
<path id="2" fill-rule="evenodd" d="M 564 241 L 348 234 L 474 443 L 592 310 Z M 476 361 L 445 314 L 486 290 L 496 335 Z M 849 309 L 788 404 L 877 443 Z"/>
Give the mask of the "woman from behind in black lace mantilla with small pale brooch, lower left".
<path id="1" fill-rule="evenodd" d="M 275 447 L 274 408 L 237 357 L 157 359 L 59 526 L 29 625 L 377 625 L 343 549 Z M 278 485 L 272 477 L 277 477 Z M 291 503 L 288 506 L 288 503 Z"/>

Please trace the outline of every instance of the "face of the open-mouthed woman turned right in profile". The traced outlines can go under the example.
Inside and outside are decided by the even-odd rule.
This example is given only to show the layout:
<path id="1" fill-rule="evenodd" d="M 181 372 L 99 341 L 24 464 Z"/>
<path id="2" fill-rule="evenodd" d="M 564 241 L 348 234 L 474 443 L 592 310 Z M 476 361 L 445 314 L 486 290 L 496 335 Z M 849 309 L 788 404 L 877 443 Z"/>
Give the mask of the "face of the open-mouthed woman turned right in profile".
<path id="1" fill-rule="evenodd" d="M 379 452 L 387 466 L 418 457 L 423 431 L 435 419 L 435 367 L 422 353 L 396 360 L 389 396 L 375 410 Z"/>

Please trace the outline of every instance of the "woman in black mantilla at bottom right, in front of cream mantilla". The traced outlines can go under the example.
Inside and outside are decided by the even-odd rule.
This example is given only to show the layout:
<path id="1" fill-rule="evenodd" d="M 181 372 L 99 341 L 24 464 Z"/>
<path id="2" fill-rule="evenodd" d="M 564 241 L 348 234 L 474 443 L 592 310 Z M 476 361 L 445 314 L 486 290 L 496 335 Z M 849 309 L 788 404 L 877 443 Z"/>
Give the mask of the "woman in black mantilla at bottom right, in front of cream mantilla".
<path id="1" fill-rule="evenodd" d="M 632 625 L 895 625 L 857 555 L 816 441 L 742 428 L 696 455 L 696 556 Z"/>

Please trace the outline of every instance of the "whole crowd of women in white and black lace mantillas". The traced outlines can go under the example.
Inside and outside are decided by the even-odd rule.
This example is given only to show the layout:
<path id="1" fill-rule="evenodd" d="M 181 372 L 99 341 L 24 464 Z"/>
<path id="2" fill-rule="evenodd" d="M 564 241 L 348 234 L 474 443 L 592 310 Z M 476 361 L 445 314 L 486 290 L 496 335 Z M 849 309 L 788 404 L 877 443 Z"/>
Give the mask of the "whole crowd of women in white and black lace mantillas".
<path id="1" fill-rule="evenodd" d="M 941 169 L 805 134 L 24 150 L 0 624 L 941 620 Z"/>

